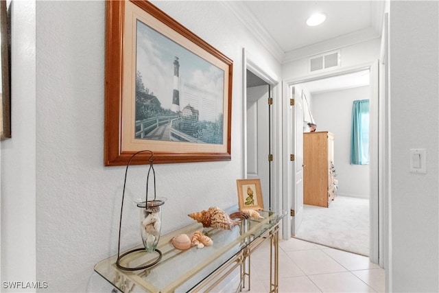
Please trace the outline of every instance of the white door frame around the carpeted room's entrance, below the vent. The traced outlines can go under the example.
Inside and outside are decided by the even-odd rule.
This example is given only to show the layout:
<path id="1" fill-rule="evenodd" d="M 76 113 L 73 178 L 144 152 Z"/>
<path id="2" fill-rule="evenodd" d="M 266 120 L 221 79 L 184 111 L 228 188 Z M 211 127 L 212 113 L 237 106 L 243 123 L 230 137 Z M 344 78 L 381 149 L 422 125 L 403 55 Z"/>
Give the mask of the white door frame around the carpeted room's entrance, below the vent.
<path id="1" fill-rule="evenodd" d="M 377 71 L 378 71 L 378 62 L 368 62 L 362 65 L 357 65 L 354 67 L 346 67 L 344 69 L 337 69 L 334 71 L 329 72 L 324 72 L 324 73 L 317 73 L 317 74 L 312 74 L 312 75 L 305 75 L 302 76 L 300 78 L 293 78 L 293 79 L 289 79 L 289 80 L 285 80 L 285 86 L 284 88 L 289 89 L 290 86 L 294 86 L 294 84 L 300 84 L 303 82 L 311 82 L 314 80 L 320 80 L 323 78 L 330 78 L 336 75 L 344 75 L 347 73 L 353 73 L 355 71 L 361 71 L 363 69 L 370 69 L 370 75 L 371 75 L 371 83 L 370 83 L 370 89 L 371 91 L 376 91 L 377 93 L 379 93 L 378 91 L 378 76 L 377 75 Z M 284 95 L 285 95 L 285 90 L 284 90 Z M 372 98 L 372 97 L 371 97 Z M 381 100 L 379 96 L 376 97 L 377 98 L 377 103 L 379 103 L 379 101 Z M 285 100 L 288 99 L 288 97 L 283 97 L 283 105 L 284 108 L 287 108 L 287 103 L 285 102 Z M 289 105 L 289 103 L 288 103 Z M 373 111 L 373 112 L 372 112 Z M 370 260 L 372 262 L 375 263 L 379 263 L 380 266 L 382 266 L 382 253 L 383 250 L 379 249 L 379 248 L 383 248 L 383 237 L 379 237 L 379 234 L 381 231 L 383 231 L 383 218 L 385 217 L 385 215 L 383 215 L 383 213 L 386 213 L 386 211 L 383 211 L 383 213 L 379 213 L 379 207 L 383 207 L 383 192 L 381 189 L 379 189 L 378 187 L 381 185 L 381 181 L 383 180 L 383 178 L 378 177 L 377 175 L 379 174 L 379 170 L 381 170 L 381 166 L 378 165 L 379 161 L 378 161 L 378 156 L 381 155 L 383 153 L 383 146 L 382 145 L 378 145 L 379 141 L 381 141 L 381 132 L 378 131 L 378 127 L 379 125 L 381 125 L 382 123 L 382 119 L 383 117 L 381 115 L 379 115 L 379 109 L 378 109 L 378 104 L 375 108 L 372 108 L 372 111 L 370 113 L 370 121 L 372 121 L 371 127 L 373 129 L 373 133 L 371 134 L 372 136 L 370 137 L 370 145 L 373 145 L 375 147 L 371 148 L 371 152 L 370 152 L 370 169 L 371 172 L 374 172 L 374 178 L 370 178 Z M 288 121 L 288 112 L 286 109 L 283 110 L 283 114 L 285 115 L 285 117 L 283 117 L 283 128 L 287 129 L 287 121 Z M 287 134 L 290 135 L 290 134 Z M 286 138 L 289 139 L 289 138 Z M 287 151 L 287 149 L 285 149 L 285 142 L 283 143 L 284 145 L 284 150 Z M 285 152 L 286 152 L 285 151 Z M 284 157 L 289 156 L 289 154 L 283 154 Z M 380 171 L 381 173 L 381 171 Z M 376 177 L 376 178 L 375 178 Z M 284 206 L 285 207 L 292 207 L 292 185 L 288 185 L 287 180 L 288 178 L 292 178 L 292 174 L 289 174 L 289 170 L 288 168 L 284 168 L 284 173 L 283 173 L 283 187 L 284 187 L 284 194 L 288 195 L 285 196 L 284 198 Z M 291 225 L 290 223 L 291 221 L 289 221 L 289 224 L 287 225 Z M 288 227 L 284 227 L 283 228 L 283 239 L 289 239 L 289 237 L 291 237 L 291 233 L 290 233 L 291 229 L 290 226 Z M 382 235 L 382 234 L 381 234 Z"/>

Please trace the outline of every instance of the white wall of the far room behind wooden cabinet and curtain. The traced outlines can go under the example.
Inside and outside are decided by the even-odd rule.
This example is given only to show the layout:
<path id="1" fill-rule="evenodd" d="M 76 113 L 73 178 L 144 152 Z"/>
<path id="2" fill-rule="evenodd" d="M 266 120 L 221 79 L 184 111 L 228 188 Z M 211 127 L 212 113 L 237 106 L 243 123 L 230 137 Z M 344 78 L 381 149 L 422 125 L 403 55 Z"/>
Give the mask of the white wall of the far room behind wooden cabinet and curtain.
<path id="1" fill-rule="evenodd" d="M 313 116 L 317 131 L 333 132 L 334 165 L 339 183 L 338 195 L 369 198 L 369 165 L 351 165 L 352 104 L 369 99 L 370 86 L 313 95 Z"/>

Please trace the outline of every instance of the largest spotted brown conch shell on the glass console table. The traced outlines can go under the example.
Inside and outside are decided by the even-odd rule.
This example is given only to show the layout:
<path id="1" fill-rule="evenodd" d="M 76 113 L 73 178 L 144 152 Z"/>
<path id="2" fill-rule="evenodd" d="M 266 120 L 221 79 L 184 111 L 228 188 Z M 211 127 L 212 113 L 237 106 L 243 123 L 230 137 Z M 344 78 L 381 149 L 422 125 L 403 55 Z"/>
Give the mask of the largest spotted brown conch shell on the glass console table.
<path id="1" fill-rule="evenodd" d="M 210 207 L 207 211 L 189 213 L 189 217 L 202 223 L 204 228 L 211 227 L 219 230 L 230 230 L 240 223 L 240 221 L 231 220 L 226 212 L 218 207 Z"/>

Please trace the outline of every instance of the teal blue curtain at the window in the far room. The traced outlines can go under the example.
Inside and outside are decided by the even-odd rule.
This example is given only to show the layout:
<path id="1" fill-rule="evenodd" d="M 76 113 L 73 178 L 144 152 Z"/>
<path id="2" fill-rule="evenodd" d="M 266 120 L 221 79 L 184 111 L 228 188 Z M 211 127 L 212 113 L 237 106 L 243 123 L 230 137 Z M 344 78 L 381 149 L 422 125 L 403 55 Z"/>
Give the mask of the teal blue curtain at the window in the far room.
<path id="1" fill-rule="evenodd" d="M 369 163 L 369 100 L 354 101 L 352 106 L 351 164 Z"/>

